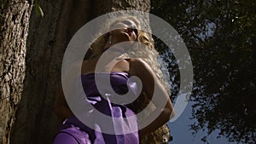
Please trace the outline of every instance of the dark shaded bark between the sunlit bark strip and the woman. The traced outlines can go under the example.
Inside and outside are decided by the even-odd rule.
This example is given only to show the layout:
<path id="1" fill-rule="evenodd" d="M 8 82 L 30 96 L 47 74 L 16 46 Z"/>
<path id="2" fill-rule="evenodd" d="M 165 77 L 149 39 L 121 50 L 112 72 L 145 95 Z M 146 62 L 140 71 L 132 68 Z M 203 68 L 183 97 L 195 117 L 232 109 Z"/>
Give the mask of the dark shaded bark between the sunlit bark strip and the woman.
<path id="1" fill-rule="evenodd" d="M 89 20 L 90 1 L 39 1 L 41 18 L 32 14 L 26 54 L 26 80 L 12 143 L 51 143 L 60 126 L 55 98 L 61 86 L 61 62 L 73 33 Z M 33 11 L 34 12 L 34 11 Z"/>

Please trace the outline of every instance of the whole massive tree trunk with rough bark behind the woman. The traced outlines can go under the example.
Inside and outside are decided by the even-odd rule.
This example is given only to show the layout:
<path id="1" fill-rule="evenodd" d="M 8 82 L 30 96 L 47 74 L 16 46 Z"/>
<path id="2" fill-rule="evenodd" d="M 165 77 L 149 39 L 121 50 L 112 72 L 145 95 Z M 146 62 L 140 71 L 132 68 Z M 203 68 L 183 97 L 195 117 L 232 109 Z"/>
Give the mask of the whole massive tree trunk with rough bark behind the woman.
<path id="1" fill-rule="evenodd" d="M 3 39 L 0 54 L 4 64 L 0 73 L 1 99 L 7 97 L 0 101 L 1 113 L 5 113 L 4 144 L 9 143 L 9 137 L 12 144 L 51 143 L 61 124 L 55 117 L 54 105 L 61 89 L 63 54 L 81 26 L 96 16 L 120 9 L 150 9 L 150 0 L 51 0 L 38 4 L 44 17 L 36 15 L 35 9 L 31 14 L 31 4 L 20 3 L 9 10 L 7 15 L 11 16 L 5 21 L 3 36 L 7 40 Z"/>

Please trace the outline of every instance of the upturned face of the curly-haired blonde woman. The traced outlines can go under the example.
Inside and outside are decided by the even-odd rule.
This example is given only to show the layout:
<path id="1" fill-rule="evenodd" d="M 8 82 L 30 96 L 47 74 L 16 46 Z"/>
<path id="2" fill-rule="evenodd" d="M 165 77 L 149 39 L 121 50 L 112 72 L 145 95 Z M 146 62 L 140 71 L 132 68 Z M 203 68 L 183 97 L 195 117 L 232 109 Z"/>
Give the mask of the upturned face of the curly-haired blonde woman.
<path id="1" fill-rule="evenodd" d="M 111 26 L 111 40 L 114 43 L 137 40 L 137 25 L 132 20 L 121 20 Z"/>

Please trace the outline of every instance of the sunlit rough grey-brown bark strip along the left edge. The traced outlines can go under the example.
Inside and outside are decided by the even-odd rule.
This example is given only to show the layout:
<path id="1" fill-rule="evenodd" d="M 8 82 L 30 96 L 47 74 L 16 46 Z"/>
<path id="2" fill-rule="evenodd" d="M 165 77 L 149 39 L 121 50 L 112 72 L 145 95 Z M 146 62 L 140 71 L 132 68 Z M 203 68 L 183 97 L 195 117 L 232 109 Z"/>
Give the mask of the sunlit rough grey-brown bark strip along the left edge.
<path id="1" fill-rule="evenodd" d="M 31 10 L 31 3 L 10 0 L 1 11 L 3 26 L 0 49 L 0 142 L 3 144 L 10 143 L 9 136 L 24 85 L 26 37 Z"/>

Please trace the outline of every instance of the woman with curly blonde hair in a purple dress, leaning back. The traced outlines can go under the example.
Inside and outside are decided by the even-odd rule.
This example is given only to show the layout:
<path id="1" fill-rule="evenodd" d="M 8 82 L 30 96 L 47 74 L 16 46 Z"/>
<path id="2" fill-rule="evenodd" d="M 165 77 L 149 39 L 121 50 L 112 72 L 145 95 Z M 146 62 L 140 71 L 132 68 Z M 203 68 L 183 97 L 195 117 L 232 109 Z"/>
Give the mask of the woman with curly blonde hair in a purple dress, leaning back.
<path id="1" fill-rule="evenodd" d="M 95 115 L 90 114 L 88 119 L 93 119 L 91 121 L 100 129 L 99 131 L 87 127 L 85 124 L 81 123 L 78 118 L 73 116 L 73 112 L 71 112 L 67 106 L 63 92 L 61 92 L 56 102 L 55 113 L 61 119 L 67 118 L 67 120 L 61 126 L 61 132 L 55 136 L 54 144 L 139 143 L 139 141 L 143 141 L 142 137 L 144 135 L 152 134 L 155 130 L 158 130 L 166 124 L 171 116 L 173 116 L 172 101 L 169 99 L 167 90 L 163 87 L 163 84 L 160 83 L 160 74 L 152 70 L 145 60 L 130 57 L 130 55 L 139 52 L 131 50 L 132 44 L 136 42 L 147 45 L 147 49 L 150 51 L 155 51 L 153 41 L 148 37 L 148 33 L 138 31 L 140 29 L 139 22 L 133 17 L 125 17 L 116 20 L 110 26 L 110 29 L 113 31 L 100 37 L 96 43 L 91 46 L 92 55 L 90 55 L 90 59 L 83 61 L 81 79 L 88 105 L 92 104 L 94 106 L 95 109 L 93 109 L 93 111 L 98 110 L 111 117 L 127 118 L 135 115 L 137 112 L 141 112 L 147 107 L 156 91 L 159 100 L 153 101 L 154 107 L 156 108 L 148 112 L 148 114 L 145 114 L 145 118 L 138 119 L 136 123 L 128 120 L 125 126 L 123 124 L 110 124 L 113 127 L 122 129 L 122 127 L 137 128 L 137 126 L 140 127 L 140 125 L 145 123 L 147 126 L 143 127 L 143 129 L 139 130 L 139 128 L 137 128 L 138 130 L 131 134 L 109 135 L 101 132 L 101 130 L 104 129 L 104 125 L 100 124 L 100 119 L 97 119 Z M 102 45 L 102 43 L 104 44 Z M 105 55 L 103 55 L 104 53 Z M 107 56 L 106 53 L 108 54 Z M 145 56 L 147 56 L 147 54 Z M 109 57 L 113 59 L 109 60 Z M 101 60 L 100 63 L 102 63 L 100 67 L 97 66 L 99 60 Z M 156 62 L 153 63 L 155 64 Z M 154 66 L 154 68 L 158 69 L 157 66 Z M 114 89 L 114 92 L 119 95 L 125 95 L 129 89 L 136 91 L 137 88 L 132 87 L 127 82 L 131 76 L 140 78 L 143 87 L 137 100 L 131 104 L 122 105 L 113 103 L 114 100 L 108 99 L 108 96 L 106 99 L 106 95 L 105 97 L 100 95 L 97 89 L 96 75 L 100 75 L 99 77 L 104 78 L 106 73 L 110 74 L 111 86 L 103 85 L 102 87 L 107 88 L 105 90 Z M 103 80 L 100 83 L 103 83 Z M 159 110 L 158 107 L 162 107 L 159 106 L 160 101 L 166 101 L 166 106 Z M 155 113 L 160 114 L 153 122 L 147 122 L 148 118 L 150 119 Z M 99 123 L 97 123 L 98 121 Z M 160 135 L 160 137 L 162 136 Z M 160 143 L 160 141 L 154 140 L 150 143 L 158 142 Z"/>

